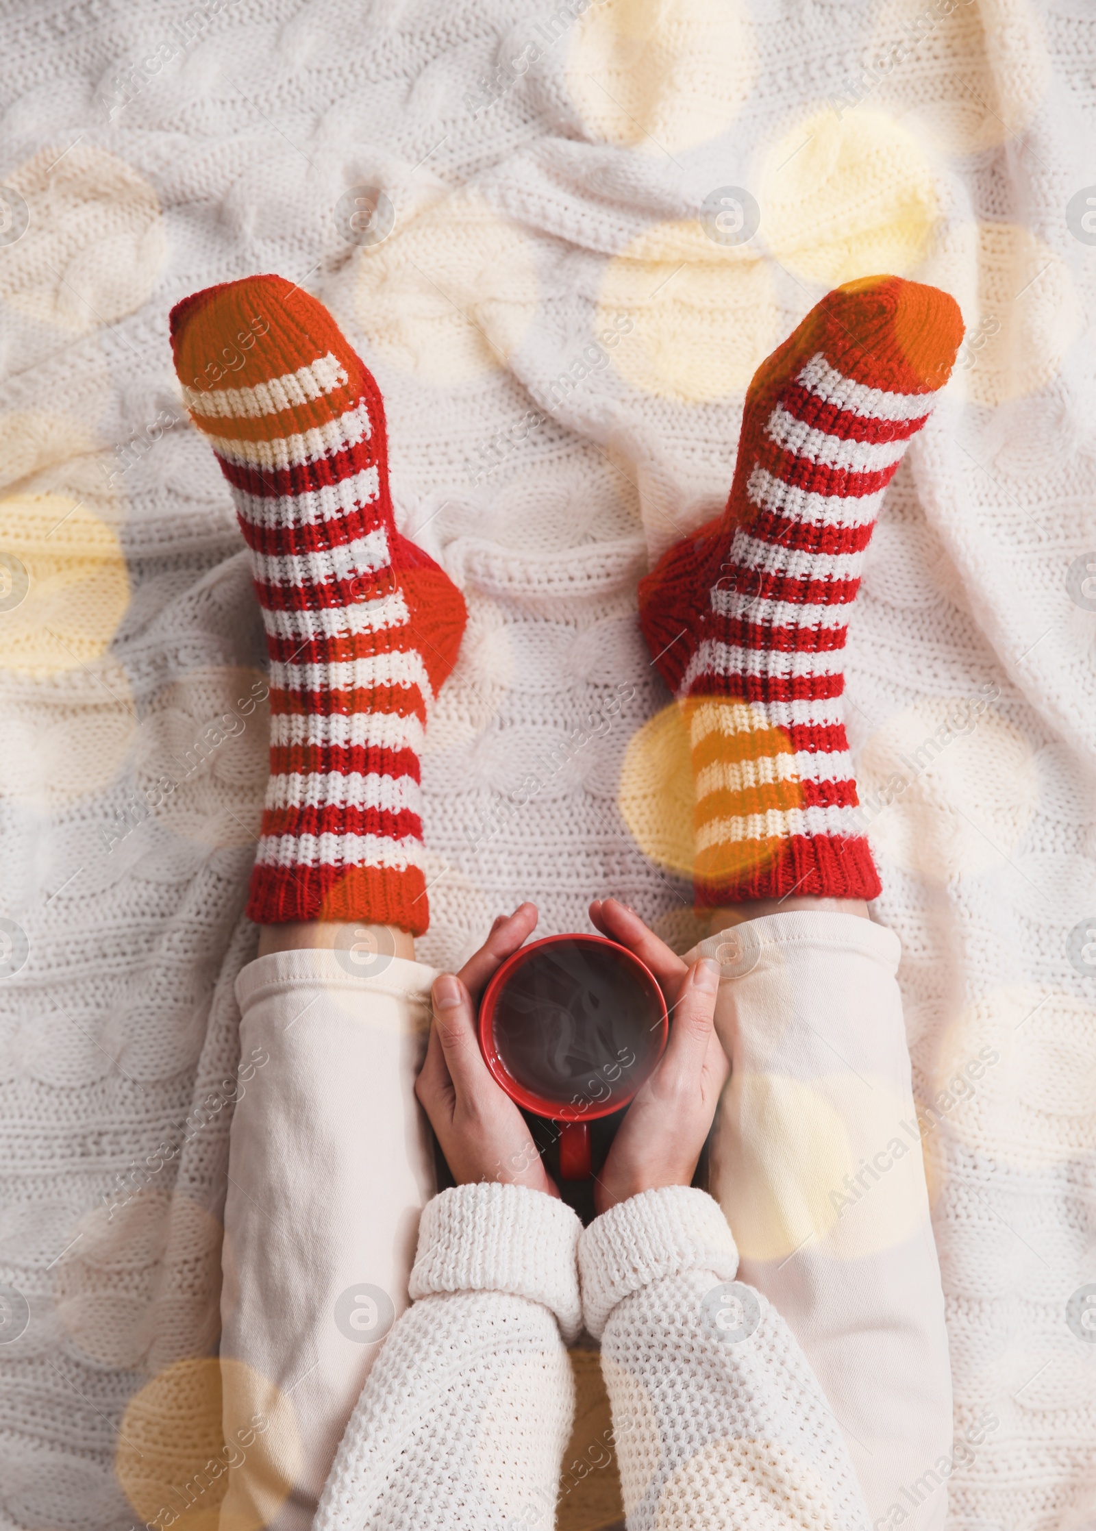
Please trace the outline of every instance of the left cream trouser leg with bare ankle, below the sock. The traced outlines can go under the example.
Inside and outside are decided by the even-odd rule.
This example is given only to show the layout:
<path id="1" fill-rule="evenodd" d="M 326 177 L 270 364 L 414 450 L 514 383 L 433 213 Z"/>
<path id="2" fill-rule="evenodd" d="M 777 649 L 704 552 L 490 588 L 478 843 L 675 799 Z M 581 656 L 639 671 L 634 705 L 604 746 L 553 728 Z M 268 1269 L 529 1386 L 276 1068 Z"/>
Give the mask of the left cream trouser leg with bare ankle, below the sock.
<path id="1" fill-rule="evenodd" d="M 305 1531 L 436 1190 L 415 1102 L 435 974 L 384 929 L 370 958 L 361 928 L 360 977 L 331 926 L 268 929 L 237 980 L 259 1069 L 233 1116 L 220 1356 L 225 1441 L 272 1428 L 233 1462 L 222 1525 Z"/>

